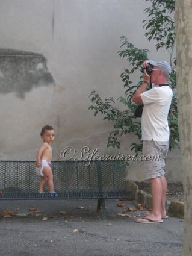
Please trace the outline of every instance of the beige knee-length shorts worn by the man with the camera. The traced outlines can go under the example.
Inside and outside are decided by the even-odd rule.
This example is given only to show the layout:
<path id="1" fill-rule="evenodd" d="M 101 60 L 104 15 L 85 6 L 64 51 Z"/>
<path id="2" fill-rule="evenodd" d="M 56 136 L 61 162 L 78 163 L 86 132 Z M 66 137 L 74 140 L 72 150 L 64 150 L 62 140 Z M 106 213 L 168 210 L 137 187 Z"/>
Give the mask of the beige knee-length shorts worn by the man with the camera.
<path id="1" fill-rule="evenodd" d="M 165 158 L 169 150 L 169 142 L 143 140 L 144 180 L 161 177 L 165 174 Z M 150 156 L 150 157 L 149 157 Z"/>

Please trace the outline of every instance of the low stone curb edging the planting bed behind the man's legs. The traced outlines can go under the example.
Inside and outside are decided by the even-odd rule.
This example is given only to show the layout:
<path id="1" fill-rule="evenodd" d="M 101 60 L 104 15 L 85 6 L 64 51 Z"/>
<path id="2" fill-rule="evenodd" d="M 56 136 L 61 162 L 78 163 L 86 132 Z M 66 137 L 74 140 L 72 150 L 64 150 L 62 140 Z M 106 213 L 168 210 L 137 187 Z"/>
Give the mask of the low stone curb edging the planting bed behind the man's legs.
<path id="1" fill-rule="evenodd" d="M 134 181 L 127 181 L 128 190 L 132 192 L 137 204 L 143 204 L 146 208 L 152 208 L 152 195 L 140 190 Z M 184 203 L 166 200 L 167 213 L 171 217 L 184 218 Z"/>

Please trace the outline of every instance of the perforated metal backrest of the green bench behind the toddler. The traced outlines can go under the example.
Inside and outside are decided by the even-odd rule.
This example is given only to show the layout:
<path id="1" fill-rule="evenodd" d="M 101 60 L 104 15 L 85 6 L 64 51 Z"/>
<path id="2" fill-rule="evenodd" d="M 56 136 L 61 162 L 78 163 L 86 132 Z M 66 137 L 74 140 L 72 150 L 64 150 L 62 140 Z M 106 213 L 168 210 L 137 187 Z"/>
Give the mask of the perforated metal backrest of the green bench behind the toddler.
<path id="1" fill-rule="evenodd" d="M 35 161 L 0 161 L 0 189 L 37 192 Z M 119 161 L 52 161 L 58 192 L 108 192 L 126 189 L 125 164 Z"/>

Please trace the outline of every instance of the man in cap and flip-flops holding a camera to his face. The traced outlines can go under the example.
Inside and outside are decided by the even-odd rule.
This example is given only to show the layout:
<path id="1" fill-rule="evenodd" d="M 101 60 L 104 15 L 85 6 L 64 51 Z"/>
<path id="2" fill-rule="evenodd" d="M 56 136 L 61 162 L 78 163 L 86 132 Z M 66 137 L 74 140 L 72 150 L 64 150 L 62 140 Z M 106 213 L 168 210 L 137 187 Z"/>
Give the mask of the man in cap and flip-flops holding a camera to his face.
<path id="1" fill-rule="evenodd" d="M 138 223 L 160 223 L 166 219 L 167 181 L 164 176 L 164 159 L 169 149 L 169 126 L 167 116 L 172 102 L 173 92 L 169 87 L 168 76 L 171 67 L 166 61 L 146 60 L 143 63 L 144 82 L 136 90 L 132 101 L 144 104 L 141 117 L 145 180 L 150 181 L 152 190 L 152 211 Z M 149 84 L 152 89 L 146 90 Z"/>

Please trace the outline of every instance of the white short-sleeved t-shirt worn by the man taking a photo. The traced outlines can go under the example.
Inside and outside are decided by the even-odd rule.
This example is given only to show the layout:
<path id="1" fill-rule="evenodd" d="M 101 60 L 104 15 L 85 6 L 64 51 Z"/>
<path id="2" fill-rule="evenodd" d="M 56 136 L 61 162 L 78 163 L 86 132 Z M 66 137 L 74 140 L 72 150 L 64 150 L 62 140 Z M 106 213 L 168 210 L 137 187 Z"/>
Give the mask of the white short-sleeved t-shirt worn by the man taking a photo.
<path id="1" fill-rule="evenodd" d="M 167 116 L 173 91 L 169 86 L 155 86 L 141 93 L 144 108 L 141 117 L 142 140 L 169 141 Z"/>

